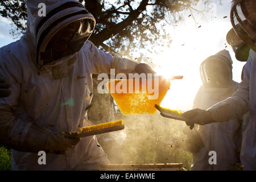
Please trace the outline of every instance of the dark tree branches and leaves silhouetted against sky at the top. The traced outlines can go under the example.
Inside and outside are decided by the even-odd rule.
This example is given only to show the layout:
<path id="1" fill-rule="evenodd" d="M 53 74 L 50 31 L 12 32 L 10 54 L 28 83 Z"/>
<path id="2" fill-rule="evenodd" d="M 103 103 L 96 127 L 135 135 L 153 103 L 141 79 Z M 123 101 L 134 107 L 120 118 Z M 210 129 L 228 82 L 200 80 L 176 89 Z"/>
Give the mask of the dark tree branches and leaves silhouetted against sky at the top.
<path id="1" fill-rule="evenodd" d="M 171 43 L 164 31 L 167 23 L 176 24 L 184 10 L 196 11 L 193 6 L 209 0 L 80 0 L 96 18 L 97 24 L 90 40 L 105 51 L 127 55 L 143 49 Z M 26 3 L 24 0 L 0 0 L 0 15 L 13 22 L 11 34 L 26 31 Z"/>

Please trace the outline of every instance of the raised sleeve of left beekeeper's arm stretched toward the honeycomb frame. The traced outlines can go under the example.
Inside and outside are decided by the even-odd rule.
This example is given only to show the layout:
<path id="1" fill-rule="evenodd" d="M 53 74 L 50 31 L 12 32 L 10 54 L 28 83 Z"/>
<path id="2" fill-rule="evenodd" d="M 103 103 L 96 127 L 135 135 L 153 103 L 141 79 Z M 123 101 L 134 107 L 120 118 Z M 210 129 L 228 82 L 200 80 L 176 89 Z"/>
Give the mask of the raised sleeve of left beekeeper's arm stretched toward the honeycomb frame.
<path id="1" fill-rule="evenodd" d="M 133 73 L 136 65 L 132 60 L 113 57 L 98 49 L 94 44 L 88 41 L 84 47 L 85 56 L 90 63 L 92 73 L 110 73 L 110 69 L 115 69 L 115 73 Z"/>

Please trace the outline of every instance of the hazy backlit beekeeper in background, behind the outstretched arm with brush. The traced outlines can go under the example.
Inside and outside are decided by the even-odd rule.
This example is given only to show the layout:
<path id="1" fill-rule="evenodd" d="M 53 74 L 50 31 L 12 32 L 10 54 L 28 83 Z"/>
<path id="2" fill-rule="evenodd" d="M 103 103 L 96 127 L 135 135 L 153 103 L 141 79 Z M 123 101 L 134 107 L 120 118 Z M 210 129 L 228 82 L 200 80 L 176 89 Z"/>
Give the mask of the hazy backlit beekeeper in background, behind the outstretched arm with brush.
<path id="1" fill-rule="evenodd" d="M 203 85 L 196 94 L 193 108 L 208 109 L 232 96 L 238 83 L 232 80 L 232 59 L 222 50 L 200 65 Z M 199 126 L 198 133 L 204 142 L 198 152 L 193 152 L 191 170 L 236 170 L 241 148 L 241 120 L 210 123 Z M 217 152 L 217 164 L 209 164 L 209 152 Z"/>

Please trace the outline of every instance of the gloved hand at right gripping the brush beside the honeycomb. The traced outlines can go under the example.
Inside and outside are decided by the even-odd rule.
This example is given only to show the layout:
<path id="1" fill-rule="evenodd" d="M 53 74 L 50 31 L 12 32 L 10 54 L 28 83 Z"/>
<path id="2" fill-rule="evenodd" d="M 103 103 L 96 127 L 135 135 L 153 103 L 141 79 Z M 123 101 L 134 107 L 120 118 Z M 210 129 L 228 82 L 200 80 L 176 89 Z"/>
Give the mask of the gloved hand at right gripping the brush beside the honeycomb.
<path id="1" fill-rule="evenodd" d="M 182 114 L 186 119 L 186 124 L 192 130 L 195 124 L 205 125 L 214 122 L 209 111 L 202 109 L 192 109 Z"/>

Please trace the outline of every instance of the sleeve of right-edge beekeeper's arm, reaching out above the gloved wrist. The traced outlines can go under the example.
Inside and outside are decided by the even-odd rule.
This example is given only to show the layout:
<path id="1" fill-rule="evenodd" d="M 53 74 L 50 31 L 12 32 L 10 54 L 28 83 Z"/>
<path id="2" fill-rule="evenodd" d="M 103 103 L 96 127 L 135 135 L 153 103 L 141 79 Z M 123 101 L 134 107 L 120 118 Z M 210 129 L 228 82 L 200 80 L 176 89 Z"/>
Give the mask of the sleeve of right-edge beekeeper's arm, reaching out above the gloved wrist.
<path id="1" fill-rule="evenodd" d="M 216 122 L 229 121 L 241 117 L 249 110 L 249 85 L 250 85 L 250 72 L 251 61 L 248 59 L 243 69 L 243 80 L 238 85 L 237 91 L 232 97 L 213 105 L 208 109 L 212 118 Z"/>

